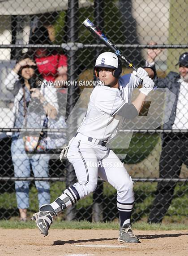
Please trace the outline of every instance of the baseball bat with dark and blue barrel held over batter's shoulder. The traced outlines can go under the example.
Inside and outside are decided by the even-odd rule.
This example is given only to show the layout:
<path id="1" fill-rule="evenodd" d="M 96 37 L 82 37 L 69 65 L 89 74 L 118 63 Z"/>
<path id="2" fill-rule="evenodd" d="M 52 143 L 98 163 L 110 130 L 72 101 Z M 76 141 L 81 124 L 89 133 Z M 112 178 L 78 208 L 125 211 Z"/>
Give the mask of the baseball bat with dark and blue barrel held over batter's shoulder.
<path id="1" fill-rule="evenodd" d="M 99 39 L 107 46 L 109 47 L 113 52 L 115 52 L 116 55 L 118 55 L 121 59 L 123 59 L 129 67 L 132 67 L 135 71 L 137 71 L 136 67 L 134 67 L 132 65 L 132 63 L 130 63 L 128 61 L 128 59 L 120 52 L 119 49 L 117 49 L 117 47 L 107 38 L 107 36 L 105 36 L 103 34 L 102 31 L 100 31 L 100 29 L 98 29 L 98 27 L 96 27 L 94 25 L 93 22 L 90 21 L 89 18 L 86 18 L 84 22 L 82 22 L 82 24 L 88 29 L 90 30 L 95 36 L 98 36 Z"/>

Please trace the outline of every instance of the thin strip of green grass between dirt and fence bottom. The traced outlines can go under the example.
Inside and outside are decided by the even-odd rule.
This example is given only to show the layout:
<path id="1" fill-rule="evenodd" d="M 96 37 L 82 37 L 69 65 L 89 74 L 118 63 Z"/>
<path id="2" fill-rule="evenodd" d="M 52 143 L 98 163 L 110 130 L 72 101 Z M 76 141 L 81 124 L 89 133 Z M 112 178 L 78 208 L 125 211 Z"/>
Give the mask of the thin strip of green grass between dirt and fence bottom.
<path id="1" fill-rule="evenodd" d="M 34 222 L 26 223 L 13 220 L 0 220 L 0 228 L 3 229 L 35 229 Z M 53 229 L 119 229 L 117 222 L 89 222 L 89 221 L 60 221 L 55 220 L 52 225 Z M 171 223 L 171 224 L 148 224 L 145 222 L 137 222 L 132 225 L 133 229 L 138 230 L 185 230 L 188 225 Z"/>

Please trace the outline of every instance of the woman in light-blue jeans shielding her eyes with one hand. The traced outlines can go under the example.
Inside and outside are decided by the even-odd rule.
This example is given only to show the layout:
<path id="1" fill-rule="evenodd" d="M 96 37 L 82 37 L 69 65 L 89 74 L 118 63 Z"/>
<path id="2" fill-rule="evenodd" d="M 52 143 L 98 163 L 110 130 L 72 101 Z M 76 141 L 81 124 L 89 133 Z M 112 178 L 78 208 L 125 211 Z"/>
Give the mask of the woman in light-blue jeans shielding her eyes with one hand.
<path id="1" fill-rule="evenodd" d="M 43 128 L 47 119 L 54 119 L 58 113 L 56 88 L 41 86 L 36 64 L 30 58 L 21 59 L 4 81 L 8 90 L 18 88 L 14 99 L 13 128 Z M 48 118 L 47 118 L 48 117 Z M 14 176 L 29 177 L 30 166 L 34 177 L 48 177 L 47 154 L 39 154 L 45 149 L 45 135 L 28 132 L 14 132 L 12 135 L 11 154 Z M 30 154 L 28 154 L 30 153 Z M 33 154 L 31 154 L 33 153 Z M 16 181 L 17 207 L 20 220 L 26 221 L 29 207 L 29 181 Z M 47 181 L 35 181 L 38 190 L 39 206 L 50 202 L 50 184 Z"/>

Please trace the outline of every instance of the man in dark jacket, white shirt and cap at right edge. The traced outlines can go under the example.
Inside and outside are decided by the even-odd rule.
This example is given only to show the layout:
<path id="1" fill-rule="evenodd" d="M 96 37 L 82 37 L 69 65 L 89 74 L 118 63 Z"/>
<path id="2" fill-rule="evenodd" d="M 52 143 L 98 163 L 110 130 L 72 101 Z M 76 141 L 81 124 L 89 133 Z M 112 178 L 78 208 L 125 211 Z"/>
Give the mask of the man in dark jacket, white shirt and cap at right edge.
<path id="1" fill-rule="evenodd" d="M 161 50 L 158 49 L 149 49 L 146 65 L 154 67 L 154 60 L 160 52 Z M 172 131 L 162 133 L 162 152 L 159 162 L 159 177 L 168 179 L 179 178 L 183 163 L 188 168 L 188 132 L 173 132 L 173 130 L 188 131 L 188 53 L 181 54 L 176 65 L 179 65 L 179 73 L 170 72 L 166 78 L 156 77 L 154 81 L 158 88 L 168 88 L 176 95 L 169 121 L 163 126 L 164 130 Z M 176 183 L 175 181 L 158 182 L 149 223 L 162 222 L 171 204 Z"/>

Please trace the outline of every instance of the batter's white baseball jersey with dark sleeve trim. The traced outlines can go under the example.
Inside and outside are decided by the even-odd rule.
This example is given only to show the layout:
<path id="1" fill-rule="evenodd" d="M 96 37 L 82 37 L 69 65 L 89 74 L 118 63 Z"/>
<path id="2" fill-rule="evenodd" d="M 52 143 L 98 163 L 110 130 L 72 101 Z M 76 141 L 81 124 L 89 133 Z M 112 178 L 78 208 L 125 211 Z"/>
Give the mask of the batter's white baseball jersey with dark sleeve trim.
<path id="1" fill-rule="evenodd" d="M 82 135 L 110 141 L 120 129 L 124 117 L 116 113 L 126 103 L 131 103 L 132 91 L 141 84 L 141 79 L 127 74 L 119 79 L 119 89 L 96 86 L 90 95 L 86 115 L 77 132 Z"/>

